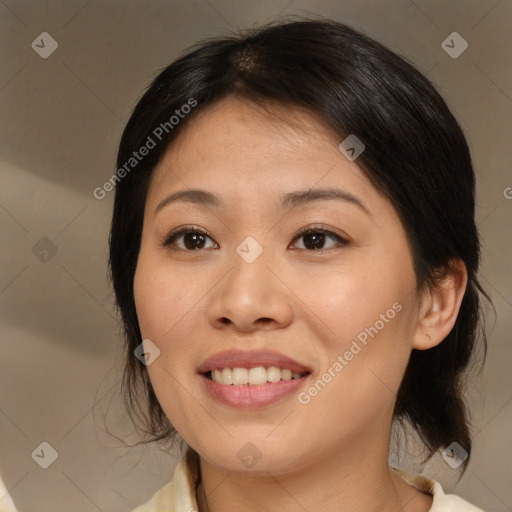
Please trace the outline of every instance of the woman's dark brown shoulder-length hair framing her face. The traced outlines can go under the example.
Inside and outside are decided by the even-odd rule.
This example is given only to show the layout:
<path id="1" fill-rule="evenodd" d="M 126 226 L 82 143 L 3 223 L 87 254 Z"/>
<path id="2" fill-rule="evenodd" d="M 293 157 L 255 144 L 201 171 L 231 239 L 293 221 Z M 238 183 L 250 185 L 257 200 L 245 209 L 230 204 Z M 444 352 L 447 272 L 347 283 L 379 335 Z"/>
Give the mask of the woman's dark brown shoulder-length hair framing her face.
<path id="1" fill-rule="evenodd" d="M 365 145 L 356 163 L 400 215 L 419 288 L 435 286 L 455 260 L 464 262 L 468 284 L 455 326 L 438 346 L 412 351 L 394 417 L 416 429 L 429 455 L 453 441 L 470 453 L 463 378 L 479 339 L 485 357 L 479 293 L 488 297 L 477 280 L 480 245 L 467 142 L 424 75 L 371 38 L 325 19 L 273 23 L 202 41 L 153 80 L 126 125 L 118 168 L 167 123 L 167 130 L 157 132 L 157 146 L 117 183 L 110 234 L 111 280 L 126 336 L 124 397 L 130 414 L 142 413 L 136 414 L 150 435 L 142 442 L 175 434 L 146 367 L 133 355 L 142 341 L 133 282 L 148 184 L 190 119 L 227 96 L 305 108 L 340 142 L 356 134 Z M 171 127 L 171 116 L 191 100 L 195 107 Z"/>

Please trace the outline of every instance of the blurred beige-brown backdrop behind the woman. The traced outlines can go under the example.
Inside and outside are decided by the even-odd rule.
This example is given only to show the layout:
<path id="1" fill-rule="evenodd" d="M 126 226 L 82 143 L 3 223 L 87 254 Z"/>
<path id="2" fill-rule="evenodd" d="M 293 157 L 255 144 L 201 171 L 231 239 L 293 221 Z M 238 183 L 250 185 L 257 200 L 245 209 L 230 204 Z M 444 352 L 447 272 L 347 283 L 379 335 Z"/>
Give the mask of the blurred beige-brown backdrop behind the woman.
<path id="1" fill-rule="evenodd" d="M 100 201 L 92 191 L 115 171 L 140 92 L 177 53 L 205 36 L 306 12 L 349 23 L 410 59 L 467 134 L 481 277 L 498 316 L 472 387 L 474 459 L 458 485 L 442 461 L 425 470 L 487 511 L 512 509 L 510 0 L 2 0 L 0 471 L 20 512 L 130 510 L 171 478 L 175 458 L 125 448 L 104 432 L 107 410 L 115 432 L 129 425 L 118 406 L 121 340 L 106 283 L 113 194 Z M 457 59 L 441 48 L 453 31 L 469 44 Z M 31 48 L 42 32 L 59 45 L 47 59 Z M 47 241 L 33 249 L 43 237 L 57 249 L 47 262 Z M 48 469 L 31 457 L 44 441 L 58 452 Z"/>

